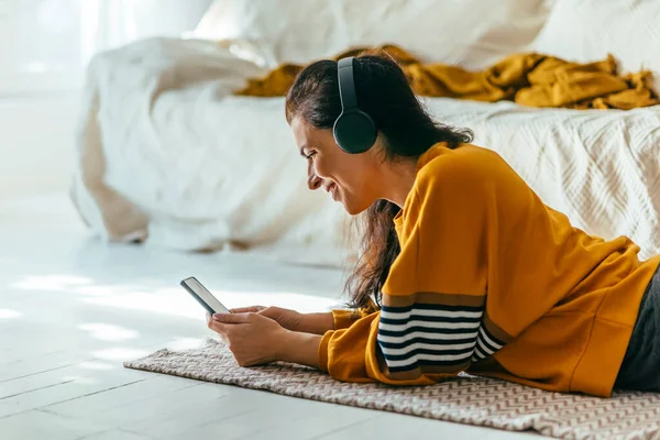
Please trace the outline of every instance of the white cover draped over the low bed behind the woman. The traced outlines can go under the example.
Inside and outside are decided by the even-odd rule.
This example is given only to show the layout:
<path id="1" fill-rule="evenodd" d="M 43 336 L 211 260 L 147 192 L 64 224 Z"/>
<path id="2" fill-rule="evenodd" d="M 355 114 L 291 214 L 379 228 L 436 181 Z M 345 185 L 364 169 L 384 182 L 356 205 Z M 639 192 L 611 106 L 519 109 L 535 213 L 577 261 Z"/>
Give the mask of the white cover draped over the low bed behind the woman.
<path id="1" fill-rule="evenodd" d="M 306 264 L 352 255 L 349 217 L 307 189 L 284 99 L 229 95 L 260 73 L 204 42 L 154 40 L 97 57 L 72 188 L 95 232 L 177 250 L 241 241 Z M 660 106 L 426 103 L 440 121 L 474 130 L 476 144 L 502 154 L 574 226 L 605 239 L 628 235 L 641 257 L 660 253 Z"/>

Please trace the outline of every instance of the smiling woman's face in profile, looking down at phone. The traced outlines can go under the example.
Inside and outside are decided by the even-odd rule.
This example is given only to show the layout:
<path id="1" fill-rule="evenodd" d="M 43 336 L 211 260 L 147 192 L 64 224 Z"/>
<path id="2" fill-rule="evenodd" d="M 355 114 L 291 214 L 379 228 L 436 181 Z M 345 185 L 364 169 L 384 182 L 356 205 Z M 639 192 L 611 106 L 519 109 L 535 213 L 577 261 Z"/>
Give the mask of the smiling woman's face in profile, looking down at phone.
<path id="1" fill-rule="evenodd" d="M 382 195 L 377 145 L 349 154 L 337 145 L 332 130 L 315 129 L 302 118 L 292 120 L 298 150 L 307 161 L 309 189 L 324 189 L 352 216 L 367 209 Z"/>

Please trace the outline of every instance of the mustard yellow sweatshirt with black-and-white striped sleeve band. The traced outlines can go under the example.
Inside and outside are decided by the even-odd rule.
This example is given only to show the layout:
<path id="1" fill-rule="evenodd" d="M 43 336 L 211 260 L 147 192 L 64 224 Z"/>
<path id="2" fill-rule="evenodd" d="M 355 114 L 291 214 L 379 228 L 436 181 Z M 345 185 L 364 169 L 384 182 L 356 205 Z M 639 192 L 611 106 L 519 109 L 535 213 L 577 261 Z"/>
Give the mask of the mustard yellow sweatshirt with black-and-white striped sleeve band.
<path id="1" fill-rule="evenodd" d="M 402 252 L 382 309 L 319 346 L 345 382 L 432 384 L 465 371 L 609 396 L 660 255 L 571 226 L 495 152 L 440 143 L 394 219 Z"/>

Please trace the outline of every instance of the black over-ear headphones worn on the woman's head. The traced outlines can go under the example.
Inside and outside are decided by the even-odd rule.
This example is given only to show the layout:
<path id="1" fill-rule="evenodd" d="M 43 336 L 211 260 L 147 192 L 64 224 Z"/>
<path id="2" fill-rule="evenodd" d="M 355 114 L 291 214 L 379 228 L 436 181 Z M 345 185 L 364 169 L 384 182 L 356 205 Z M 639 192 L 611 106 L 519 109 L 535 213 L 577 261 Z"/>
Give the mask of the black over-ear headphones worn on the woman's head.
<path id="1" fill-rule="evenodd" d="M 346 153 L 364 153 L 376 142 L 378 131 L 374 120 L 358 107 L 355 80 L 353 78 L 354 58 L 342 58 L 338 63 L 339 97 L 341 114 L 334 121 L 332 134 L 334 142 Z"/>

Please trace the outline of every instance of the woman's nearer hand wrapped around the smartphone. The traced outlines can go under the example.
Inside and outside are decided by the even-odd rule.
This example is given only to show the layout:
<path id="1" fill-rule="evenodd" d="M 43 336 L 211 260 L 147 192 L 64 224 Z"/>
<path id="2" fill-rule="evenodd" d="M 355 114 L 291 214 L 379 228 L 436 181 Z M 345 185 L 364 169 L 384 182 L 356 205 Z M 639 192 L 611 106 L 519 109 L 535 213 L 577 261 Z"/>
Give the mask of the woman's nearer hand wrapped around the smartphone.
<path id="1" fill-rule="evenodd" d="M 207 324 L 220 336 L 240 366 L 277 361 L 287 330 L 255 312 L 207 314 Z"/>

